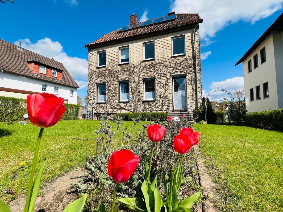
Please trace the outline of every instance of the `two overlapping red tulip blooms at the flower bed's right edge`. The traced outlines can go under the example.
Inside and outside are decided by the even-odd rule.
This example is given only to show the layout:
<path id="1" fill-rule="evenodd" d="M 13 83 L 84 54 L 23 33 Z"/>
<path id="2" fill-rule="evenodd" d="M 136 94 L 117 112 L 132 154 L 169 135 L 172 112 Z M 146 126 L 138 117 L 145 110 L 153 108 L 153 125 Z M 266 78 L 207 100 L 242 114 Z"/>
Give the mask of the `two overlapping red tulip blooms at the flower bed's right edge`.
<path id="1" fill-rule="evenodd" d="M 180 127 L 180 134 L 173 139 L 175 152 L 185 154 L 186 152 L 190 151 L 192 146 L 198 143 L 199 138 L 200 133 L 194 132 L 189 127 L 185 127 L 184 129 L 181 129 Z"/>

